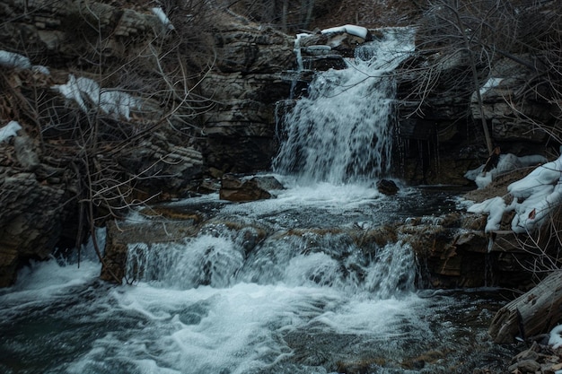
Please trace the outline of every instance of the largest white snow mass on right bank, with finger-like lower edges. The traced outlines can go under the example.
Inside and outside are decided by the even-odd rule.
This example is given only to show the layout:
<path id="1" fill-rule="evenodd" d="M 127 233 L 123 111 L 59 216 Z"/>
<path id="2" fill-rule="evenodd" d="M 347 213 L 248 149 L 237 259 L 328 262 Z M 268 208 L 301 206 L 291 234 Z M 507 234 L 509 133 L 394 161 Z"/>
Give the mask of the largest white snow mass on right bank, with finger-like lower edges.
<path id="1" fill-rule="evenodd" d="M 529 157 L 529 161 L 536 161 Z M 499 165 L 499 163 L 498 163 Z M 529 175 L 507 187 L 514 196 L 512 204 L 502 197 L 493 197 L 468 208 L 471 213 L 487 213 L 486 231 L 498 230 L 502 216 L 514 211 L 511 229 L 516 233 L 532 232 L 549 217 L 549 213 L 562 204 L 562 156 L 531 171 Z"/>

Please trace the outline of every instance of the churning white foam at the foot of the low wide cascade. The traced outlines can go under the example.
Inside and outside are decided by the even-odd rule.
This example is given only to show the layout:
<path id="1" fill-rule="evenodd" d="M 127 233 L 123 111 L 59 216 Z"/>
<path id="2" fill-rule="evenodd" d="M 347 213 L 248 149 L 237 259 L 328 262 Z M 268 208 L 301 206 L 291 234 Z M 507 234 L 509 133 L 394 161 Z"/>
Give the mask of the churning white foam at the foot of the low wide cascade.
<path id="1" fill-rule="evenodd" d="M 317 335 L 330 334 L 337 340 L 359 334 L 366 344 L 403 335 L 420 340 L 431 334 L 420 326 L 408 332 L 419 320 L 412 308 L 419 308 L 421 300 L 414 296 L 354 300 L 329 288 L 238 283 L 228 289 L 174 291 L 141 283 L 114 291 L 112 297 L 117 302 L 115 316 L 126 313 L 136 322 L 127 327 L 127 334 L 101 336 L 68 365 L 68 372 L 283 372 L 269 369 L 283 370 L 279 363 L 295 355 L 284 335 L 298 333 L 314 344 Z M 408 323 L 401 321 L 404 318 Z M 397 325 L 404 331 L 396 331 Z M 302 366 L 294 372 L 310 371 Z"/>

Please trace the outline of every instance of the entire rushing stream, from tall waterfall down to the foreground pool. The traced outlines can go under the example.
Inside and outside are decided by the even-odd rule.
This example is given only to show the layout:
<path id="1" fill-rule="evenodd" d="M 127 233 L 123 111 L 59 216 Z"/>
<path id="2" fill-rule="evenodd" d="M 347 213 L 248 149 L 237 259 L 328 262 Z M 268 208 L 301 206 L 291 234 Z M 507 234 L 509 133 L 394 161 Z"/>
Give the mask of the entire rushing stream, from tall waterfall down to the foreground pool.
<path id="1" fill-rule="evenodd" d="M 361 71 L 364 80 L 371 57 L 350 68 L 353 79 Z M 341 76 L 324 78 L 318 83 L 349 85 Z M 487 340 L 490 318 L 505 301 L 497 291 L 421 290 L 423 269 L 411 248 L 400 239 L 384 246 L 364 239 L 386 222 L 456 207 L 452 196 L 414 188 L 379 194 L 372 178 L 388 170 L 390 89 L 345 82 L 356 87 L 346 90 L 353 98 L 339 99 L 355 105 L 349 126 L 367 128 L 344 131 L 344 119 L 319 122 L 305 114 L 310 102 L 298 106 L 288 129 L 293 140 L 276 161 L 278 171 L 296 175 L 277 176 L 287 187 L 277 198 L 232 204 L 213 194 L 171 204 L 206 221 L 180 242 L 130 245 L 123 285 L 97 279 L 101 266 L 89 247 L 80 267 L 53 259 L 23 269 L 18 283 L 0 291 L 0 372 L 470 373 L 501 367 L 511 352 Z M 358 97 L 373 98 L 376 87 L 384 92 L 375 95 L 384 108 L 357 109 L 364 105 L 355 103 Z M 329 117 L 341 111 L 336 107 Z M 330 137 L 319 148 L 322 134 Z M 356 158 L 365 152 L 366 159 Z M 165 222 L 154 225 L 166 230 Z"/>

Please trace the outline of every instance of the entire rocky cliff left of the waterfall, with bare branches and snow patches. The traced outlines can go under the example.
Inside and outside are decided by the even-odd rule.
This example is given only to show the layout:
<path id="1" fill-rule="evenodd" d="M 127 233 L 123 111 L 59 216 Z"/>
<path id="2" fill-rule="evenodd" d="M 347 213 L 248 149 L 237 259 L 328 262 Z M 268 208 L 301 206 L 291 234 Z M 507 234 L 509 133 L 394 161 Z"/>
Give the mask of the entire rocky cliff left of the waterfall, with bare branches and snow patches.
<path id="1" fill-rule="evenodd" d="M 0 285 L 29 259 L 80 243 L 90 203 L 101 224 L 197 189 L 209 168 L 268 168 L 292 39 L 213 10 L 215 22 L 197 29 L 174 12 L 175 27 L 148 3 L 0 5 L 0 50 L 25 62 L 2 60 L 0 126 L 22 130 L 0 143 Z M 189 27 L 200 31 L 195 45 L 182 38 Z M 14 152 L 24 135 L 29 146 Z"/>

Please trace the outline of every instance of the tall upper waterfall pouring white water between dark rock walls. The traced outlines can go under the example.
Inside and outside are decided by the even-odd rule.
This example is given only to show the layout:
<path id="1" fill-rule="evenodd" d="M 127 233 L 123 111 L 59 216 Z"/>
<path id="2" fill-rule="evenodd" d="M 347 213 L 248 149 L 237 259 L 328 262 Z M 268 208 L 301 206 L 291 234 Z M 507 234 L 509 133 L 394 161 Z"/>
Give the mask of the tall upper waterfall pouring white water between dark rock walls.
<path id="1" fill-rule="evenodd" d="M 391 72 L 413 50 L 413 34 L 383 30 L 381 39 L 356 48 L 347 69 L 317 74 L 309 96 L 278 126 L 284 141 L 274 170 L 334 184 L 387 174 L 396 94 Z"/>

